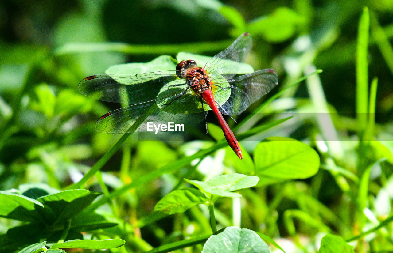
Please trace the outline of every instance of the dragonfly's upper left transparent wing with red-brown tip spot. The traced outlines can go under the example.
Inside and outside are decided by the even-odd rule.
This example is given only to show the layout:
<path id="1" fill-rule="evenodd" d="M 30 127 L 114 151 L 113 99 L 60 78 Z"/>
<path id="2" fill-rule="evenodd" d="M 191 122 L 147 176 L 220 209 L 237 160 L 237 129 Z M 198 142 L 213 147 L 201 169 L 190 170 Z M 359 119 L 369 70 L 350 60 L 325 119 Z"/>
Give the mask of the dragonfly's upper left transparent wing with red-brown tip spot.
<path id="1" fill-rule="evenodd" d="M 84 78 L 78 86 L 86 96 L 125 104 L 139 104 L 154 100 L 160 89 L 171 85 L 185 84 L 176 76 L 176 71 L 157 71 L 138 75 L 95 75 Z"/>

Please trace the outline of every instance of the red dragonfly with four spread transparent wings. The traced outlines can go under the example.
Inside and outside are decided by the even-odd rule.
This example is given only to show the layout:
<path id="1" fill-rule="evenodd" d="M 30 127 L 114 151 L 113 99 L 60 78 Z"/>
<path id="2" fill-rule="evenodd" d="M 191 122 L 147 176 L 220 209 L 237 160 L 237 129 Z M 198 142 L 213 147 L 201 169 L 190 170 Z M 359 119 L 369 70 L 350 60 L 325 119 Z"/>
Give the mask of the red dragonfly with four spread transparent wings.
<path id="1" fill-rule="evenodd" d="M 128 104 L 97 120 L 95 129 L 102 133 L 144 132 L 148 122 L 207 124 L 207 113 L 212 111 L 228 145 L 242 159 L 239 142 L 222 115 L 239 115 L 278 84 L 273 69 L 238 75 L 251 49 L 252 37 L 243 33 L 203 67 L 195 60 L 182 60 L 169 71 L 93 75 L 84 78 L 78 89 L 101 101 Z"/>

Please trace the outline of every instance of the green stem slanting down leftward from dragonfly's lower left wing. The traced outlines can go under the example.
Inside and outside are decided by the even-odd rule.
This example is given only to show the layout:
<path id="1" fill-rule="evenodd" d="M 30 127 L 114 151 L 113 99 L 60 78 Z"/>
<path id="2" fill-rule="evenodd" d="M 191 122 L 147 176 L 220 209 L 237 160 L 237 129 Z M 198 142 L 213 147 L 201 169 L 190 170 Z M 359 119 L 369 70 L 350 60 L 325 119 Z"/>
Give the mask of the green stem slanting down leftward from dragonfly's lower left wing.
<path id="1" fill-rule="evenodd" d="M 91 177 L 94 176 L 94 174 L 99 171 L 107 162 L 108 160 L 118 151 L 118 149 L 121 147 L 121 145 L 127 140 L 127 138 L 131 135 L 131 133 L 125 133 L 119 140 L 118 142 L 111 147 L 111 149 L 108 150 L 105 155 L 99 159 L 94 166 L 83 176 L 83 178 L 70 186 L 67 187 L 67 189 L 80 189 Z"/>

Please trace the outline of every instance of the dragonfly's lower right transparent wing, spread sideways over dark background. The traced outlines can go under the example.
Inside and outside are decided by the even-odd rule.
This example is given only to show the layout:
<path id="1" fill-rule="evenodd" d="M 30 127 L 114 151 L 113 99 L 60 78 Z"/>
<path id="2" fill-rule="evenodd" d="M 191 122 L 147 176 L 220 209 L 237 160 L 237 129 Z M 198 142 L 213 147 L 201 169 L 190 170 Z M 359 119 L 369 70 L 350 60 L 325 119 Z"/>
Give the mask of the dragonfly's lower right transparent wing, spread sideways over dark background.
<path id="1" fill-rule="evenodd" d="M 222 114 L 238 115 L 245 111 L 252 103 L 257 101 L 263 95 L 266 95 L 278 84 L 277 73 L 273 69 L 261 69 L 254 73 L 236 76 L 228 80 L 231 94 L 227 100 L 220 99 L 228 97 L 226 89 L 217 87 L 214 89 L 213 96 Z"/>

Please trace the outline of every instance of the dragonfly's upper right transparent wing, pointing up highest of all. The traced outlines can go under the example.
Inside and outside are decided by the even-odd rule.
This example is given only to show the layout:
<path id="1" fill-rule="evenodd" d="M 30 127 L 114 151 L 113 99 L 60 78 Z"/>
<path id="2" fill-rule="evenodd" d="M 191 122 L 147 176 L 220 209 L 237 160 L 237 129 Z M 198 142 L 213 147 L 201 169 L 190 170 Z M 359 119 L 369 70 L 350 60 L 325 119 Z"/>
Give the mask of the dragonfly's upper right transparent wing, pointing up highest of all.
<path id="1" fill-rule="evenodd" d="M 227 49 L 213 56 L 205 65 L 207 73 L 218 73 L 225 78 L 237 74 L 239 63 L 246 60 L 252 48 L 252 38 L 249 33 L 243 33 Z"/>

